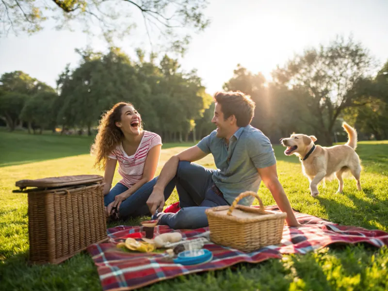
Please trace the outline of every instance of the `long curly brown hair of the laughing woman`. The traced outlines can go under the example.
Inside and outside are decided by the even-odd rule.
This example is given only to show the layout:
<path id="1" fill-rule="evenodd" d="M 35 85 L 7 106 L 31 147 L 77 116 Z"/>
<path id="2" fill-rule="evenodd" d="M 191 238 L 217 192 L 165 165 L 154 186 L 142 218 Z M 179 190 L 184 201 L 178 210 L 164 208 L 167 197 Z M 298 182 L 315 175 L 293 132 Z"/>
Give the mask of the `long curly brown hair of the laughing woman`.
<path id="1" fill-rule="evenodd" d="M 119 102 L 101 116 L 98 133 L 90 150 L 92 154 L 96 155 L 94 167 L 99 170 L 105 169 L 108 155 L 124 138 L 124 133 L 116 126 L 116 122 L 121 121 L 121 110 L 124 106 L 133 107 L 129 102 Z M 140 130 L 143 129 L 142 124 L 139 127 Z"/>

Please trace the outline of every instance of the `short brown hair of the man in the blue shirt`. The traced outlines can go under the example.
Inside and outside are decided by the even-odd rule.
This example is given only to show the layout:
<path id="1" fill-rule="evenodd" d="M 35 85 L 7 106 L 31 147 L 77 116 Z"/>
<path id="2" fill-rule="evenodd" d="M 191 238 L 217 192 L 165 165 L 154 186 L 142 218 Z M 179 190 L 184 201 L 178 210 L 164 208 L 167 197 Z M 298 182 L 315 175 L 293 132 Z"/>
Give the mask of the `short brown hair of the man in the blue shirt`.
<path id="1" fill-rule="evenodd" d="M 215 102 L 221 105 L 224 119 L 234 115 L 238 127 L 245 127 L 251 123 L 255 112 L 255 102 L 249 95 L 242 92 L 216 92 L 213 96 Z"/>

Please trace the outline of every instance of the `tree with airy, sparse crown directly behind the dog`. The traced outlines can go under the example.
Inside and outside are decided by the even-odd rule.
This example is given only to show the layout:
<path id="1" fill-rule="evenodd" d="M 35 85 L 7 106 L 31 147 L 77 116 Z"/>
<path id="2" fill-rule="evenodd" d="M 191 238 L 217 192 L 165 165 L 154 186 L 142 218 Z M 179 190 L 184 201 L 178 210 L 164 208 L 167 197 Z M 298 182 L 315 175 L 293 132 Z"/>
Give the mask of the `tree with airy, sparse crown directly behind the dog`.
<path id="1" fill-rule="evenodd" d="M 352 37 L 337 37 L 327 47 L 308 49 L 296 55 L 284 68 L 277 68 L 274 79 L 309 96 L 307 106 L 316 117 L 311 126 L 323 145 L 333 142 L 333 128 L 345 108 L 371 102 L 369 91 L 372 57 Z"/>

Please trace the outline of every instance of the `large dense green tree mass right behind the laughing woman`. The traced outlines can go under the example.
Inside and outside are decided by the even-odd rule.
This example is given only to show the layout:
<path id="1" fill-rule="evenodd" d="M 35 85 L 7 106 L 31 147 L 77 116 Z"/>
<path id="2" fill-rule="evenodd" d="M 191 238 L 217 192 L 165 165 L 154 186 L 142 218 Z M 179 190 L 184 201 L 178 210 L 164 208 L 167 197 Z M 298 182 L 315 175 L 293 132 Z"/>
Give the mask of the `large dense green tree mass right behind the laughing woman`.
<path id="1" fill-rule="evenodd" d="M 158 132 L 163 140 L 188 140 L 209 106 L 205 88 L 196 72 L 182 73 L 177 60 L 164 55 L 159 65 L 155 54 L 145 59 L 138 49 L 133 62 L 117 48 L 107 54 L 78 50 L 81 64 L 74 71 L 66 67 L 57 84 L 60 98 L 58 122 L 65 127 L 97 125 L 101 113 L 120 101 L 139 110 L 145 129 Z"/>

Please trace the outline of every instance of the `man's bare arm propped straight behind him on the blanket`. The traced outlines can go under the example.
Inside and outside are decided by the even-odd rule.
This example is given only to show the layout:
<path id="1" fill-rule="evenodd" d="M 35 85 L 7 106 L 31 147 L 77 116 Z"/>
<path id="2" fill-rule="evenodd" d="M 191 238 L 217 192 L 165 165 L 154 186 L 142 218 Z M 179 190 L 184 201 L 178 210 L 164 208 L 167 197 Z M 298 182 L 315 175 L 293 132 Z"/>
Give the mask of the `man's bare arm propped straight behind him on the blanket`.
<path id="1" fill-rule="evenodd" d="M 295 215 L 291 209 L 290 201 L 282 185 L 277 178 L 276 164 L 265 167 L 257 168 L 261 179 L 264 182 L 264 185 L 269 189 L 272 196 L 274 197 L 277 206 L 283 212 L 287 213 L 287 224 L 288 226 L 301 226 L 295 218 Z"/>

